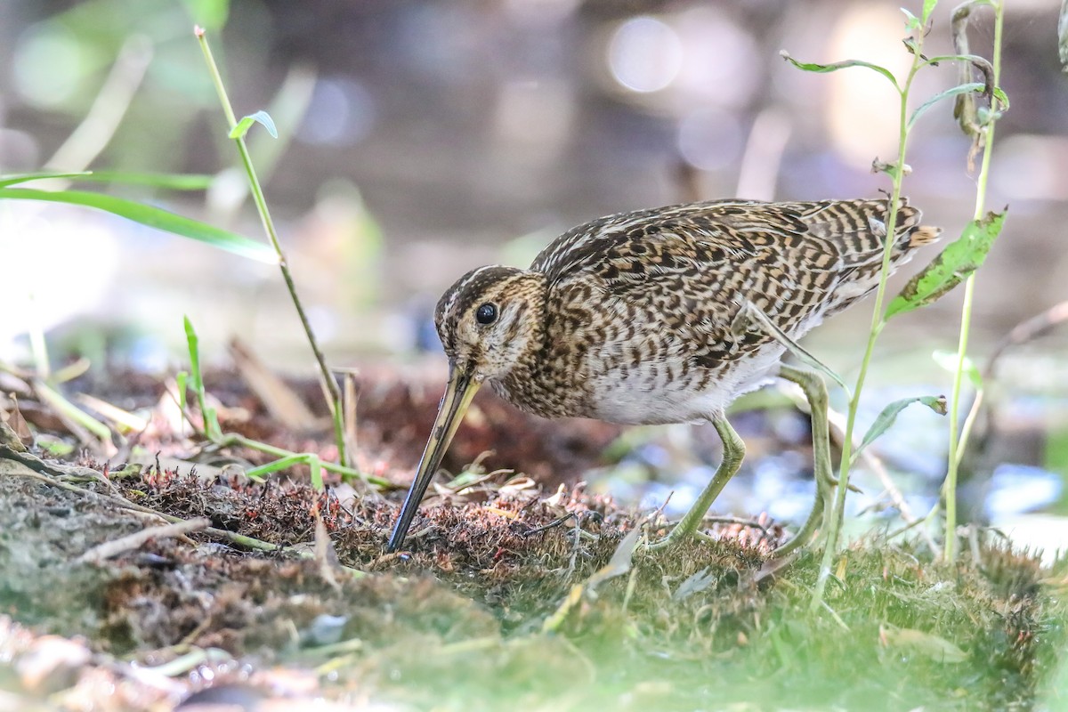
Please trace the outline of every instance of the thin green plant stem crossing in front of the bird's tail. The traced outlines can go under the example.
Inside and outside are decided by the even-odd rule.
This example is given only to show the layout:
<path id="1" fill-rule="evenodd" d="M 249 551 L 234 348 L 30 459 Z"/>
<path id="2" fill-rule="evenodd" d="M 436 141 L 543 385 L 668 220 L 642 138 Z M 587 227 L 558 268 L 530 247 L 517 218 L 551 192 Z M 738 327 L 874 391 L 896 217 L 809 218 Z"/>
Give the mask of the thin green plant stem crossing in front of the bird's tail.
<path id="1" fill-rule="evenodd" d="M 834 506 L 828 513 L 826 521 L 827 539 L 823 549 L 823 558 L 820 561 L 819 574 L 816 579 L 816 587 L 813 591 L 812 610 L 816 611 L 823 605 L 823 595 L 827 590 L 827 580 L 831 575 L 834 557 L 837 555 L 838 540 L 842 535 L 842 524 L 846 511 L 846 492 L 849 489 L 849 465 L 852 461 L 853 430 L 857 425 L 857 411 L 860 407 L 861 395 L 864 392 L 864 382 L 867 379 L 868 366 L 871 363 L 871 354 L 875 352 L 875 344 L 882 333 L 886 321 L 883 316 L 883 301 L 886 297 L 886 278 L 890 275 L 890 262 L 894 247 L 895 232 L 897 230 L 898 203 L 901 200 L 901 181 L 905 177 L 905 156 L 909 140 L 909 89 L 912 79 L 923 62 L 923 33 L 917 33 L 915 48 L 912 54 L 912 66 L 909 69 L 904 88 L 895 82 L 899 102 L 899 133 L 897 143 L 897 164 L 891 173 L 893 189 L 890 197 L 890 215 L 886 217 L 886 236 L 884 238 L 882 251 L 882 268 L 879 273 L 879 286 L 876 289 L 875 305 L 871 308 L 871 328 L 868 330 L 867 346 L 864 349 L 864 358 L 861 360 L 860 373 L 857 375 L 857 386 L 853 389 L 852 397 L 849 399 L 849 408 L 846 416 L 846 433 L 842 442 L 842 462 L 838 468 L 838 487 L 835 491 Z"/>

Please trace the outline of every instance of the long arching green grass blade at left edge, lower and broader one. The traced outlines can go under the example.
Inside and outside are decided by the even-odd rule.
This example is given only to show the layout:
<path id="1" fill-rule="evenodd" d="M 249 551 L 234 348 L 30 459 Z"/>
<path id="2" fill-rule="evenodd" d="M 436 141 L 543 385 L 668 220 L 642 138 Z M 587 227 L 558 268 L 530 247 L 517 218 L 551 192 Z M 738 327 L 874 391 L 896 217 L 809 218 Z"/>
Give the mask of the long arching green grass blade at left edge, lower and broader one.
<path id="1" fill-rule="evenodd" d="M 162 208 L 127 201 L 104 193 L 89 193 L 77 190 L 48 192 L 30 188 L 0 189 L 0 199 L 45 201 L 50 203 L 66 203 L 82 205 L 97 210 L 104 210 L 148 227 L 155 227 L 168 233 L 206 242 L 211 247 L 233 252 L 266 264 L 277 264 L 278 256 L 263 242 L 250 240 L 236 233 L 216 227 L 207 223 L 169 212 Z"/>

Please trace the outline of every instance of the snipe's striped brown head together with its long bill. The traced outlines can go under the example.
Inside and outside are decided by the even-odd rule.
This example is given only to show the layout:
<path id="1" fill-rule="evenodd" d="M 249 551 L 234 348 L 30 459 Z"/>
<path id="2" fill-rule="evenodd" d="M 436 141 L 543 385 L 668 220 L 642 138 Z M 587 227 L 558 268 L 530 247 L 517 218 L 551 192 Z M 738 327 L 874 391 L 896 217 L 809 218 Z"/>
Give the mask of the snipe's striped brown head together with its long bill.
<path id="1" fill-rule="evenodd" d="M 480 386 L 487 379 L 503 379 L 537 348 L 545 296 L 540 272 L 498 266 L 471 270 L 441 296 L 435 323 L 449 357 L 449 384 L 389 551 L 404 543 L 419 503 Z"/>

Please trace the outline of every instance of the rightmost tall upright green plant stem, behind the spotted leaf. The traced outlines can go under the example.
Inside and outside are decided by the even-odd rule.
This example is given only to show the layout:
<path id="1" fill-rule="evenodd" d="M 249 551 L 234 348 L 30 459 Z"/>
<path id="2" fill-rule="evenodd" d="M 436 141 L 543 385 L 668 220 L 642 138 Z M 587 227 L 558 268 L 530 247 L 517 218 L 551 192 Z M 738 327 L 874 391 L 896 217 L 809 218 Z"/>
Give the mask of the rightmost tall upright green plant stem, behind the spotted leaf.
<path id="1" fill-rule="evenodd" d="M 1000 85 L 1001 80 L 1001 50 L 1003 30 L 1003 5 L 1001 2 L 992 2 L 994 11 L 994 46 L 993 65 L 994 86 Z M 993 108 L 995 99 L 991 99 Z M 976 180 L 975 189 L 975 220 L 983 218 L 986 210 L 987 181 L 990 176 L 991 146 L 994 140 L 995 122 L 991 120 L 986 127 L 985 143 L 983 146 L 983 161 L 979 167 L 979 176 Z M 945 487 L 945 549 L 943 556 L 947 561 L 957 558 L 957 477 L 960 470 L 960 461 L 964 447 L 968 445 L 968 436 L 971 432 L 971 418 L 964 424 L 964 428 L 959 428 L 960 416 L 960 392 L 964 381 L 964 361 L 968 358 L 968 339 L 972 322 L 972 305 L 975 295 L 975 272 L 968 275 L 964 282 L 964 303 L 960 310 L 960 338 L 957 345 L 957 368 L 953 375 L 953 393 L 949 400 L 949 455 L 946 463 Z M 978 395 L 976 396 L 978 397 Z"/>

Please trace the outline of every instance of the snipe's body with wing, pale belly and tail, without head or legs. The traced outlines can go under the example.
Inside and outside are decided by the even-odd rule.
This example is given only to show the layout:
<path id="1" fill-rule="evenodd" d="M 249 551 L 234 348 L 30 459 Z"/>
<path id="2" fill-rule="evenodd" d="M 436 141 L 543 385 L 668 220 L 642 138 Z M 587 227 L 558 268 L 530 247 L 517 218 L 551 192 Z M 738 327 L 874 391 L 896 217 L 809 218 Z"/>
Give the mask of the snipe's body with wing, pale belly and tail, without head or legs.
<path id="1" fill-rule="evenodd" d="M 743 304 L 797 338 L 865 296 L 878 284 L 888 203 L 714 201 L 575 227 L 531 266 L 548 285 L 536 366 L 499 390 L 541 414 L 625 423 L 725 408 L 783 351 L 758 328 L 739 333 Z M 937 238 L 920 220 L 902 201 L 893 266 Z"/>

